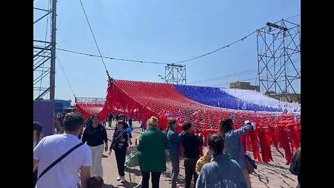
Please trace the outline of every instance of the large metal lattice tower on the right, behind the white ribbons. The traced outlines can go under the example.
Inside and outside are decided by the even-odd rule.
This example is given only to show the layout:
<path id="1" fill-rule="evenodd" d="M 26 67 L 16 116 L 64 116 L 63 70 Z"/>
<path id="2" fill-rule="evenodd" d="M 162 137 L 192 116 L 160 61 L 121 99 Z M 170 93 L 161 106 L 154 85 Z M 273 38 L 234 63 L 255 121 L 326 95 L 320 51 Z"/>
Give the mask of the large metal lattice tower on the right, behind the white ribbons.
<path id="1" fill-rule="evenodd" d="M 282 19 L 257 29 L 258 79 L 261 91 L 275 98 L 297 95 L 294 87 L 301 80 L 301 29 Z M 300 84 L 299 84 L 300 85 Z"/>

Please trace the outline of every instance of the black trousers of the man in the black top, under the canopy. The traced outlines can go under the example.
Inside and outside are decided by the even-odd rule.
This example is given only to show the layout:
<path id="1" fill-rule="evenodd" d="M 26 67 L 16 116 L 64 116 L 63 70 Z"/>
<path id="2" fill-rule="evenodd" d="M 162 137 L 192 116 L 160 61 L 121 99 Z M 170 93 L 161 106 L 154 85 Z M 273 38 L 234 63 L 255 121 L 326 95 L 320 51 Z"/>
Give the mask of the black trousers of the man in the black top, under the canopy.
<path id="1" fill-rule="evenodd" d="M 196 187 L 196 180 L 198 175 L 196 173 L 196 162 L 199 158 L 186 158 L 184 157 L 184 173 L 186 174 L 184 180 L 184 187 L 190 188 L 191 180 L 193 179 L 193 187 Z"/>

